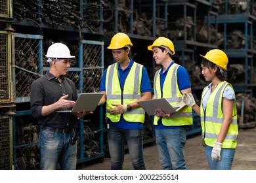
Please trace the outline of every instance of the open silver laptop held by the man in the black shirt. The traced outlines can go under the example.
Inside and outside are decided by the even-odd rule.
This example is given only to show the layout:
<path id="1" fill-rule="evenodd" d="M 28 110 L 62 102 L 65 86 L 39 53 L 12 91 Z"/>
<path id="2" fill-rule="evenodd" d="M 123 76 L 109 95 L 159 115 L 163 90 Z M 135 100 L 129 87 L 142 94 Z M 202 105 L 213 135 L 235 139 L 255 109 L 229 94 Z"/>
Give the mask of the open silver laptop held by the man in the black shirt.
<path id="1" fill-rule="evenodd" d="M 94 111 L 103 93 L 81 93 L 71 110 L 57 110 L 56 112 Z"/>

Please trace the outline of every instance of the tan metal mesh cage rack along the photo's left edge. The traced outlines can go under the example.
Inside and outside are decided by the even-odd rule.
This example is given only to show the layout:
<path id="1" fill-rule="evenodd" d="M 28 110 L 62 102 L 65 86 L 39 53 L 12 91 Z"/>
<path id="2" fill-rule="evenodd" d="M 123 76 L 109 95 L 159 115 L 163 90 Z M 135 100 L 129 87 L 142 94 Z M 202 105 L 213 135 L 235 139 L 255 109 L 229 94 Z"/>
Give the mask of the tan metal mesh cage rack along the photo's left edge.
<path id="1" fill-rule="evenodd" d="M 0 169 L 12 169 L 12 115 L 14 105 L 11 60 L 12 6 L 10 0 L 0 4 Z"/>

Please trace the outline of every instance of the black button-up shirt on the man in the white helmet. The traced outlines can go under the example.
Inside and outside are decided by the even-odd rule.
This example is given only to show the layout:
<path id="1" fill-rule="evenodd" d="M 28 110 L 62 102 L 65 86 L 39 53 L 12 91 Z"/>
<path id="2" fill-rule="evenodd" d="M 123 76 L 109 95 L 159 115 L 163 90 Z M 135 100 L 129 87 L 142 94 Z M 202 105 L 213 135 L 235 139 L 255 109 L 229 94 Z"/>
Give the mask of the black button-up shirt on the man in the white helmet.
<path id="1" fill-rule="evenodd" d="M 43 106 L 55 103 L 60 97 L 66 94 L 68 94 L 67 100 L 76 101 L 77 90 L 74 82 L 62 76 L 62 82 L 60 83 L 49 71 L 32 83 L 30 88 L 30 106 L 32 116 L 33 118 L 37 118 L 39 125 L 68 128 L 74 124 L 76 118 L 71 112 L 53 112 L 47 116 L 41 115 Z"/>

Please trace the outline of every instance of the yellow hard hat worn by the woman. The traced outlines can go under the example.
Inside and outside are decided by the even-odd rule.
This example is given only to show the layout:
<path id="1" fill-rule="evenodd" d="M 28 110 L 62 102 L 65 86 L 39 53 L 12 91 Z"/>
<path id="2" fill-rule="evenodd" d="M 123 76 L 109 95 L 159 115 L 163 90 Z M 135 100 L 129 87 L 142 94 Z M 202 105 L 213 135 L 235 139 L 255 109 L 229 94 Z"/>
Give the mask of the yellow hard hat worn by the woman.
<path id="1" fill-rule="evenodd" d="M 209 50 L 209 52 L 207 52 L 205 56 L 202 56 L 202 57 L 207 59 L 208 61 L 211 61 L 212 63 L 215 63 L 216 65 L 223 68 L 224 70 L 226 70 L 226 66 L 228 65 L 228 56 L 226 56 L 223 50 L 219 50 L 219 49 Z"/>

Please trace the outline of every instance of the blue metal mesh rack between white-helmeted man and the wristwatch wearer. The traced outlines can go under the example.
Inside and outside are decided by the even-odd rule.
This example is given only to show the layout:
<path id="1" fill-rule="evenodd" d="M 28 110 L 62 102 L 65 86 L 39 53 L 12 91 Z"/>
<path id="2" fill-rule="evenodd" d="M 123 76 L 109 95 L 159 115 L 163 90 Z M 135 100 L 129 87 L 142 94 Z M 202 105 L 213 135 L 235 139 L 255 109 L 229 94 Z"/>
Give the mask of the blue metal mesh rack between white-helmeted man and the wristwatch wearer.
<path id="1" fill-rule="evenodd" d="M 94 54 L 93 54 L 93 52 Z M 90 53 L 90 54 L 89 54 Z M 104 72 L 104 42 L 82 40 L 79 46 L 79 67 L 82 68 L 79 78 L 79 91 L 82 93 L 98 92 L 100 89 L 100 81 Z M 90 83 L 90 80 L 94 82 Z M 79 158 L 77 163 L 83 163 L 92 159 L 104 158 L 103 142 L 104 142 L 104 119 L 103 108 L 100 106 L 97 110 L 98 119 L 92 118 L 91 124 L 97 124 L 96 129 L 92 131 L 84 131 L 84 121 L 80 121 L 79 125 Z M 98 120 L 98 123 L 95 122 Z M 83 139 L 85 135 L 98 135 L 98 150 L 93 154 L 85 156 L 85 143 Z"/>

